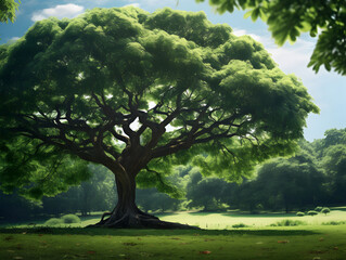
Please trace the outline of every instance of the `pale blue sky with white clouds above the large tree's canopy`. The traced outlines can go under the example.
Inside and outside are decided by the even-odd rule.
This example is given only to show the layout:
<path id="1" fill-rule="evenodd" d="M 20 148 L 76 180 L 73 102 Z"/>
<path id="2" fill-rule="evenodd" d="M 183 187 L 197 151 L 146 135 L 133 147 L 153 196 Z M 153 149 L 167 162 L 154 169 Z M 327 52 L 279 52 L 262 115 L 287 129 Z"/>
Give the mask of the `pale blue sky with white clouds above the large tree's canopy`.
<path id="1" fill-rule="evenodd" d="M 184 10 L 206 13 L 213 24 L 228 24 L 233 34 L 249 35 L 261 42 L 279 67 L 286 74 L 295 74 L 320 107 L 319 115 L 309 115 L 307 127 L 304 130 L 305 139 L 313 141 L 322 139 L 328 129 L 346 128 L 346 76 L 329 73 L 323 68 L 318 74 L 307 67 L 316 38 L 303 35 L 294 43 L 278 47 L 271 38 L 268 27 L 261 21 L 253 22 L 244 18 L 243 11 L 232 14 L 218 14 L 206 2 L 196 3 L 195 0 L 22 0 L 16 13 L 16 21 L 12 24 L 0 24 L 0 44 L 15 41 L 23 37 L 35 22 L 55 16 L 57 18 L 73 18 L 93 8 L 120 8 L 132 4 L 154 12 L 165 6 L 175 10 Z"/>

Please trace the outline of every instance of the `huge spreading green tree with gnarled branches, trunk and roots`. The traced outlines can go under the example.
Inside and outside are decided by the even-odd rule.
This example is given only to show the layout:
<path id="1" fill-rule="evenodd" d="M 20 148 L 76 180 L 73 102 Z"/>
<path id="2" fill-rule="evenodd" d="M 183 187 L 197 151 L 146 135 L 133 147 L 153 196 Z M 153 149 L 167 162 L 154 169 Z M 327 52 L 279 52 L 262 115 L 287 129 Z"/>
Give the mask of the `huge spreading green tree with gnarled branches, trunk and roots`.
<path id="1" fill-rule="evenodd" d="M 136 184 L 179 197 L 165 177 L 192 159 L 205 174 L 240 180 L 291 153 L 318 112 L 260 43 L 202 12 L 49 18 L 0 56 L 2 188 L 59 193 L 87 179 L 87 162 L 103 165 L 118 203 L 97 226 L 179 226 L 139 210 Z"/>

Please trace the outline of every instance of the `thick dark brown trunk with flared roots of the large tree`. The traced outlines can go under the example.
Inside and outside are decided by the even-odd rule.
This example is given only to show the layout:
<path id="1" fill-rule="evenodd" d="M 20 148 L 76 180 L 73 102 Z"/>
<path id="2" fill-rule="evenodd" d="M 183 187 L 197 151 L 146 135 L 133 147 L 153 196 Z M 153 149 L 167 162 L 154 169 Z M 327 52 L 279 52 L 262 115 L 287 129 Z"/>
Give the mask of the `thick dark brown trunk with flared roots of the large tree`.
<path id="1" fill-rule="evenodd" d="M 145 213 L 136 205 L 134 177 L 128 176 L 121 181 L 116 180 L 118 202 L 112 212 L 105 212 L 101 221 L 87 227 L 114 229 L 198 229 L 185 224 L 161 221 L 158 218 Z"/>

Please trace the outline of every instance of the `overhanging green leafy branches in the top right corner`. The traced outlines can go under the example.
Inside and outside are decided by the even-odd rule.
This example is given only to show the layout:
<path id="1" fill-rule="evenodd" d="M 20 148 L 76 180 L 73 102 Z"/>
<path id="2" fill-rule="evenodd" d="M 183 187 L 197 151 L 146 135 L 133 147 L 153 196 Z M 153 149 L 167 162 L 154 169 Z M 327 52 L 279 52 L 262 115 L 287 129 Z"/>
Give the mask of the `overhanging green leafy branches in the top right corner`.
<path id="1" fill-rule="evenodd" d="M 204 0 L 196 0 L 204 2 Z M 209 0 L 217 11 L 232 13 L 234 8 L 248 10 L 245 17 L 258 17 L 266 22 L 279 46 L 286 40 L 295 41 L 300 32 L 318 36 L 308 66 L 318 73 L 324 65 L 346 75 L 346 3 L 343 0 Z"/>

